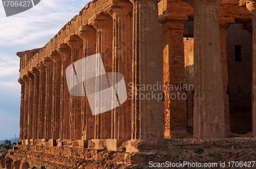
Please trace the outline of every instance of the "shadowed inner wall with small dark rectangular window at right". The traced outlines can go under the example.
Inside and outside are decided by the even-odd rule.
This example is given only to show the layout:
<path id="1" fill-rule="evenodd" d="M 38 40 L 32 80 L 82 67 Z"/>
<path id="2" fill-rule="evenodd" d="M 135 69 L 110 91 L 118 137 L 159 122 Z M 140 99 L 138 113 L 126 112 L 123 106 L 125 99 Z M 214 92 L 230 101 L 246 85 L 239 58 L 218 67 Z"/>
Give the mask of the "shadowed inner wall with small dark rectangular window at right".
<path id="1" fill-rule="evenodd" d="M 226 41 L 230 129 L 251 131 L 251 34 L 231 24 Z"/>

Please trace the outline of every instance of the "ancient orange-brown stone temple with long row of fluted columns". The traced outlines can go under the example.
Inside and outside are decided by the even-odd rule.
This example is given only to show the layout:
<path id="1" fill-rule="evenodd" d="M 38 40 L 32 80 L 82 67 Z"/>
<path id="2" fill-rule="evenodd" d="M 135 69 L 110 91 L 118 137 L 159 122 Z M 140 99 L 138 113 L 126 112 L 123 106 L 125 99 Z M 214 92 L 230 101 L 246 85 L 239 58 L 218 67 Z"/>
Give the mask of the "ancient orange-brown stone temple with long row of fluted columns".
<path id="1" fill-rule="evenodd" d="M 254 1 L 241 5 L 239 0 L 87 4 L 44 47 L 17 53 L 20 143 L 10 156 L 24 159 L 29 151 L 28 161 L 49 168 L 74 166 L 62 159 L 72 156 L 80 159 L 77 167 L 108 168 L 111 153 L 104 156 L 102 149 L 113 152 L 112 165 L 123 166 L 150 160 L 132 152 L 175 145 L 210 151 L 213 142 L 217 147 L 226 142 L 228 152 L 233 145 L 242 151 L 244 142 L 254 144 L 254 138 L 227 139 L 256 136 L 256 7 Z M 81 90 L 81 96 L 72 95 L 69 85 L 79 83 L 79 73 L 89 73 L 76 71 L 77 61 L 97 53 L 105 72 L 123 75 L 127 98 L 94 115 L 89 93 L 82 92 L 84 81 L 73 91 Z M 56 157 L 51 160 L 50 154 Z M 154 159 L 164 159 L 159 157 Z M 109 165 L 90 167 L 82 159 Z"/>

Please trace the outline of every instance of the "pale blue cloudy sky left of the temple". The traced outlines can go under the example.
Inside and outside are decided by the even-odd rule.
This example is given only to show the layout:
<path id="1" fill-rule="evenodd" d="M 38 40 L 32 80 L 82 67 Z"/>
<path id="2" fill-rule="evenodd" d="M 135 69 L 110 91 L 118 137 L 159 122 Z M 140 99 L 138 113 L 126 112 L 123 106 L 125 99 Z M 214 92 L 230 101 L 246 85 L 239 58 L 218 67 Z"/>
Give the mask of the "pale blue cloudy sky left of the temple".
<path id="1" fill-rule="evenodd" d="M 0 140 L 19 135 L 18 51 L 43 47 L 89 0 L 41 0 L 6 17 L 0 2 Z"/>

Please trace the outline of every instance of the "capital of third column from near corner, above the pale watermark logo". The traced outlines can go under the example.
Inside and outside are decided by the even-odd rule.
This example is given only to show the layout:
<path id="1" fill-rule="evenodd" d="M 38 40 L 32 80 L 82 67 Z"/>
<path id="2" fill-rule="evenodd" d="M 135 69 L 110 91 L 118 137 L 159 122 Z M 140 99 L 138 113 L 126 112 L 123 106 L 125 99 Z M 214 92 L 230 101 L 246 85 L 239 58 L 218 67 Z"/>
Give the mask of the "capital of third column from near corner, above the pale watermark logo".
<path id="1" fill-rule="evenodd" d="M 96 14 L 88 19 L 88 24 L 92 24 L 96 30 L 113 29 L 112 24 L 106 22 L 113 22 L 109 14 Z"/>

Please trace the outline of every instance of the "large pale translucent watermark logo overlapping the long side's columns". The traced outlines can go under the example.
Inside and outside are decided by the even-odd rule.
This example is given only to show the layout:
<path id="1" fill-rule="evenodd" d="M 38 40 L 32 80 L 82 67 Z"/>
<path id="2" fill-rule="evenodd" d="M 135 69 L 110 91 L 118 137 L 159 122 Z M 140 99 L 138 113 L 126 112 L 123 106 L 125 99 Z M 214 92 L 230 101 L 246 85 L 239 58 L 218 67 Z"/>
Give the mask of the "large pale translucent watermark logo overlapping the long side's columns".
<path id="1" fill-rule="evenodd" d="M 123 75 L 106 73 L 99 53 L 68 66 L 66 78 L 70 95 L 87 96 L 93 115 L 112 110 L 127 99 Z"/>

